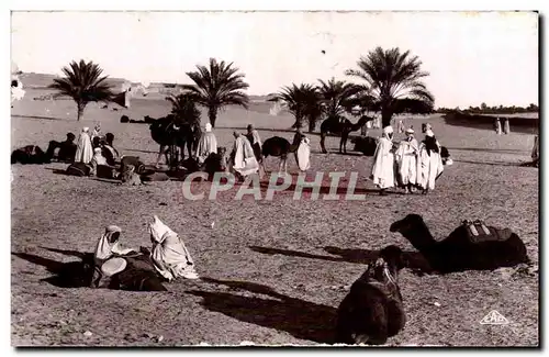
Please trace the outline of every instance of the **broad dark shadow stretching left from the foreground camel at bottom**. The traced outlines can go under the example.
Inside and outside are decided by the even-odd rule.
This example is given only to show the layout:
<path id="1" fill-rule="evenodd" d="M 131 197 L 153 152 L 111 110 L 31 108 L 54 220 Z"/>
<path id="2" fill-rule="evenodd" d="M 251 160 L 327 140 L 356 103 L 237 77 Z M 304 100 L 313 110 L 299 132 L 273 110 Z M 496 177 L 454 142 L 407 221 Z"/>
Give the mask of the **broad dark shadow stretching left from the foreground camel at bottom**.
<path id="1" fill-rule="evenodd" d="M 203 298 L 202 305 L 233 319 L 268 328 L 285 331 L 300 339 L 321 344 L 334 341 L 334 324 L 337 310 L 333 306 L 291 298 L 272 288 L 247 281 L 216 280 L 202 281 L 223 285 L 233 290 L 245 290 L 268 298 L 244 297 L 229 292 L 189 290 L 187 293 Z"/>

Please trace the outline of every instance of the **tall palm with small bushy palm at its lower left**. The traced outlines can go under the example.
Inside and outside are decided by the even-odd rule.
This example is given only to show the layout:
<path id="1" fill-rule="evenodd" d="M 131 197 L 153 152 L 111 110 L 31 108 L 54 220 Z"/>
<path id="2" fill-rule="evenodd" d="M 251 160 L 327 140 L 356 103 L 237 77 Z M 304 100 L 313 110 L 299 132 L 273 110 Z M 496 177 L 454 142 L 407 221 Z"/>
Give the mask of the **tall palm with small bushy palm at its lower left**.
<path id="1" fill-rule="evenodd" d="M 238 74 L 238 68 L 228 65 L 224 60 L 217 63 L 210 58 L 210 67 L 197 66 L 197 71 L 189 71 L 194 85 L 183 85 L 197 101 L 208 108 L 210 124 L 215 127 L 217 112 L 226 105 L 240 105 L 248 109 L 248 96 L 243 92 L 249 85 L 244 81 L 245 75 Z"/>

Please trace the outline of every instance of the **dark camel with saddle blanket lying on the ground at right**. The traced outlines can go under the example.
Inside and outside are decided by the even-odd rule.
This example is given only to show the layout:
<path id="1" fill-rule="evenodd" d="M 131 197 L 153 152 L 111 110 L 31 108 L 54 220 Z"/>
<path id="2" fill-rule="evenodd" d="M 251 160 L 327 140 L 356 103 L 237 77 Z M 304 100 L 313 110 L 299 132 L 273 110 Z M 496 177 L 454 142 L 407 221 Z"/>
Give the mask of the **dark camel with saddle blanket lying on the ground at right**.
<path id="1" fill-rule="evenodd" d="M 471 236 L 462 224 L 446 239 L 437 242 L 421 215 L 408 214 L 391 224 L 390 231 L 400 232 L 440 274 L 530 264 L 526 246 L 517 234 L 508 228 L 486 228 L 490 234 L 479 231 L 478 236 Z"/>

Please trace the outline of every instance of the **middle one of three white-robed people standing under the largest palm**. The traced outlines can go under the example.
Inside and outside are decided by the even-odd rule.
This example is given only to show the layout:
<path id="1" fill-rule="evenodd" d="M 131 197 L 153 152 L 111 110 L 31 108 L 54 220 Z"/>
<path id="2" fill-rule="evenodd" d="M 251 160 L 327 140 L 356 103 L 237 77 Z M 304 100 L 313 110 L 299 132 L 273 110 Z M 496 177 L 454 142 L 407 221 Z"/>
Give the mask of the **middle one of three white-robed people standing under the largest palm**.
<path id="1" fill-rule="evenodd" d="M 397 175 L 400 183 L 404 187 L 405 193 L 411 193 L 417 183 L 417 155 L 419 147 L 414 137 L 414 130 L 406 130 L 406 138 L 401 141 L 395 153 L 397 163 Z"/>

